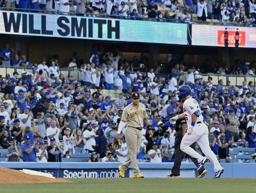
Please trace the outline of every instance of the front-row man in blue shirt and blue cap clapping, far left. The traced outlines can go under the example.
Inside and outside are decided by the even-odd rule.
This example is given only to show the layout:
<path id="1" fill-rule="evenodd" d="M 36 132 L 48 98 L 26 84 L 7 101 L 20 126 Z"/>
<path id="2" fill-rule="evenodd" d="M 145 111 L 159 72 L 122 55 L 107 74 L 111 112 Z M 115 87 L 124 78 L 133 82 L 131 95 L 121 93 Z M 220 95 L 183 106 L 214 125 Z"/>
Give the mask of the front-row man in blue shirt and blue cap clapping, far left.
<path id="1" fill-rule="evenodd" d="M 30 143 L 30 137 L 24 137 L 25 143 L 22 145 L 23 162 L 37 162 L 36 153 L 39 152 L 37 141 Z"/>

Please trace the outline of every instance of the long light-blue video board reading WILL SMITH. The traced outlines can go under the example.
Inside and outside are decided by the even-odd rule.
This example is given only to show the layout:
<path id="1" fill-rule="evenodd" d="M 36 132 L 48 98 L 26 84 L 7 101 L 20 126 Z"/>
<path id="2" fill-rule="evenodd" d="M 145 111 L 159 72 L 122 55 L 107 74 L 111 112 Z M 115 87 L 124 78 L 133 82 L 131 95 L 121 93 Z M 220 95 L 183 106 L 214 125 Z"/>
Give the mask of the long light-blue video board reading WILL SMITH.
<path id="1" fill-rule="evenodd" d="M 187 24 L 3 10 L 0 34 L 187 45 Z"/>

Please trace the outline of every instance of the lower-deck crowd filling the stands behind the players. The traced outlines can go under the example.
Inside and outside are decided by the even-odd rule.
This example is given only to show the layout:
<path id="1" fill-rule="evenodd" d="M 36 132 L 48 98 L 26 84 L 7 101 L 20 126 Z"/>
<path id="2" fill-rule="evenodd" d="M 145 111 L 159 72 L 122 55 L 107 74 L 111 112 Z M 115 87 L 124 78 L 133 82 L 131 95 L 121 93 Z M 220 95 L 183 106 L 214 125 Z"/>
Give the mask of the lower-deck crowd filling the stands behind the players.
<path id="1" fill-rule="evenodd" d="M 2 64 L 34 67 L 34 74 L 19 74 L 13 68 L 13 74 L 1 75 L 0 148 L 8 149 L 9 161 L 61 162 L 62 154 L 65 158 L 91 154 L 89 161 L 97 162 L 99 154 L 102 162 L 123 162 L 127 158 L 125 135 L 119 150 L 113 150 L 111 144 L 123 109 L 131 103 L 131 93 L 138 92 L 155 132 L 150 138 L 143 130 L 137 159 L 142 162 L 148 154 L 150 162 L 170 162 L 176 132 L 169 119 L 180 111 L 176 90 L 184 84 L 191 86 L 192 96 L 200 104 L 216 156 L 228 162 L 235 144 L 256 147 L 254 82 L 244 81 L 237 88 L 219 80 L 214 86 L 211 77 L 202 79 L 200 68 L 184 63 L 173 65 L 171 79 L 163 81 L 157 75 L 159 68 L 148 68 L 145 57 L 141 65 L 143 61 L 137 57 L 122 59 L 118 50 L 105 54 L 94 50 L 86 63 L 74 52 L 68 65 L 81 74 L 80 80 L 74 80 L 72 75 L 59 73 L 56 56 L 33 64 L 24 55 L 12 60 L 13 55 L 6 44 L 0 51 Z M 236 74 L 238 70 L 252 76 L 255 66 L 251 64 L 247 69 L 243 61 L 236 60 L 229 70 L 214 63 L 212 72 Z"/>

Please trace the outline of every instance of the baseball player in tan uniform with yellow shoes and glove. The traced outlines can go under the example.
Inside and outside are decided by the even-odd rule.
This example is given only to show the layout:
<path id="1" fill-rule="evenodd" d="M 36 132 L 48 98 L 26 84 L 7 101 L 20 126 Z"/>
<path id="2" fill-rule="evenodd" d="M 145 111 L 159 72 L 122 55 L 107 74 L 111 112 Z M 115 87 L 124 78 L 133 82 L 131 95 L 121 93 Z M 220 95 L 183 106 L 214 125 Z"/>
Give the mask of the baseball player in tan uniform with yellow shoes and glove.
<path id="1" fill-rule="evenodd" d="M 121 140 L 120 133 L 127 122 L 125 138 L 128 148 L 128 158 L 118 167 L 118 169 L 120 171 L 120 176 L 125 177 L 125 171 L 131 164 L 133 166 L 133 177 L 143 178 L 144 176 L 140 173 L 136 159 L 140 152 L 141 130 L 143 129 L 143 123 L 147 126 L 150 137 L 153 136 L 153 129 L 149 125 L 145 105 L 140 103 L 140 95 L 138 93 L 133 93 L 131 95 L 131 99 L 133 100 L 133 103 L 127 105 L 123 110 L 122 118 L 118 127 L 118 134 L 116 136 L 116 139 Z"/>

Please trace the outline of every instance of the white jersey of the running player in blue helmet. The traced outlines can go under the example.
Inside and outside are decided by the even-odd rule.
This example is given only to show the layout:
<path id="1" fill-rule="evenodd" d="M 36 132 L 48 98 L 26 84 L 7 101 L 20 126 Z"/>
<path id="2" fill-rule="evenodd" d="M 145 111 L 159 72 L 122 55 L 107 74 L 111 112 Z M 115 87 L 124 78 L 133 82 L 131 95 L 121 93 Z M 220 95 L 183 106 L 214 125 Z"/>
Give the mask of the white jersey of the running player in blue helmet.
<path id="1" fill-rule="evenodd" d="M 199 104 L 197 103 L 197 100 L 193 98 L 189 98 L 184 101 L 183 103 L 183 112 L 185 115 L 185 119 L 187 121 L 187 125 L 191 125 L 192 122 L 192 114 L 197 115 L 197 121 L 204 121 L 204 118 L 202 117 L 201 110 L 199 107 Z"/>

